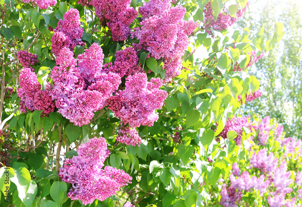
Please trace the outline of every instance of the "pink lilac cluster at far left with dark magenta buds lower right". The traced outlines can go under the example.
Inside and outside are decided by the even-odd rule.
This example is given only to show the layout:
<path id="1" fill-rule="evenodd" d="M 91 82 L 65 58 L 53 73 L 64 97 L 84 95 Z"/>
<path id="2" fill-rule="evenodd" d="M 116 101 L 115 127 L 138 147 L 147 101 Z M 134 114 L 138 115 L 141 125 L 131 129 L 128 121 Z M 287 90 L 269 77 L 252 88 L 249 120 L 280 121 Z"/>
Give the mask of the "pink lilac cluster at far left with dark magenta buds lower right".
<path id="1" fill-rule="evenodd" d="M 37 75 L 30 68 L 24 67 L 19 75 L 18 97 L 21 98 L 20 110 L 26 112 L 26 108 L 31 112 L 43 110 L 41 116 L 54 111 L 55 105 L 48 93 L 41 89 L 37 80 Z"/>

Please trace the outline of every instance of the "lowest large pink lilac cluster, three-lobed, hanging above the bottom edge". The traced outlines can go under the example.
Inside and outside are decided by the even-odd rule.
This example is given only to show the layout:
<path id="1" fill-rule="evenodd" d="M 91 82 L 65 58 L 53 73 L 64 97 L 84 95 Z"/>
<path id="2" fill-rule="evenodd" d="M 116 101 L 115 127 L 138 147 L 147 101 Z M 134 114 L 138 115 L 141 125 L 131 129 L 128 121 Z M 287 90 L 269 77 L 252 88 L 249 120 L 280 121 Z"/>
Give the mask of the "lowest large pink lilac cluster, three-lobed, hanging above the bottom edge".
<path id="1" fill-rule="evenodd" d="M 88 143 L 81 144 L 77 149 L 78 156 L 64 161 L 59 168 L 59 177 L 72 184 L 67 193 L 71 200 L 81 200 L 84 205 L 95 199 L 105 200 L 116 194 L 120 187 L 131 183 L 130 177 L 123 170 L 105 166 L 104 161 L 110 152 L 105 138 L 93 138 Z"/>

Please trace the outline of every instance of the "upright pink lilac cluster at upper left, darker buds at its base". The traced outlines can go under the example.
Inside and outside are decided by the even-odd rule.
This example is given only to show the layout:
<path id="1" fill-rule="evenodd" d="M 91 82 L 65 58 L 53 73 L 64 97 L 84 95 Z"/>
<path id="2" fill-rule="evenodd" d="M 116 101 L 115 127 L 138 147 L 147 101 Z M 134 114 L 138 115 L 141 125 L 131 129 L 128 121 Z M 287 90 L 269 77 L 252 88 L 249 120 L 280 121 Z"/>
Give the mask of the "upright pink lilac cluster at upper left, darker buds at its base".
<path id="1" fill-rule="evenodd" d="M 74 50 L 76 45 L 84 46 L 82 41 L 83 28 L 80 28 L 80 14 L 76 9 L 69 9 L 63 15 L 63 20 L 60 19 L 58 26 L 53 31 L 51 37 L 51 51 L 54 55 L 58 55 L 60 50 L 64 47 Z"/>

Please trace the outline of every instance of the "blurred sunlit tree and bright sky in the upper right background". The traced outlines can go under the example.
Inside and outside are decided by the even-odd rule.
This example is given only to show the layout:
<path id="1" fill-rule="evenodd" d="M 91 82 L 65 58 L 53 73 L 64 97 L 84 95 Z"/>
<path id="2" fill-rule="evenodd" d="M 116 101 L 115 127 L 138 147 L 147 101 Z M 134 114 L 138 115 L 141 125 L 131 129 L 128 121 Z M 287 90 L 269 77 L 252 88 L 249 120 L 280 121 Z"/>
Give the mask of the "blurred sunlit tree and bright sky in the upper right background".
<path id="1" fill-rule="evenodd" d="M 282 22 L 283 38 L 267 57 L 259 59 L 249 71 L 260 81 L 263 96 L 247 102 L 242 113 L 271 116 L 283 124 L 286 136 L 302 138 L 302 24 L 301 1 L 251 0 L 237 27 L 258 30 Z M 258 17 L 258 18 L 257 18 Z M 268 35 L 268 34 L 267 34 Z"/>

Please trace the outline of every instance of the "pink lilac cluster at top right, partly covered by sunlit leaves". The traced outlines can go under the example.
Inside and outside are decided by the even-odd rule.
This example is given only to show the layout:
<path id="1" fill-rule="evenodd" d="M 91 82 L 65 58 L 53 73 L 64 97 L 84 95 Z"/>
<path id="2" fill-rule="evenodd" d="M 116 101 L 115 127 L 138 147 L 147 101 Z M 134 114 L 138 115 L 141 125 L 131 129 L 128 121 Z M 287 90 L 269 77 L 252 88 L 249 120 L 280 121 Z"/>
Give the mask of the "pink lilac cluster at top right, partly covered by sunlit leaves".
<path id="1" fill-rule="evenodd" d="M 246 8 L 249 6 L 249 2 L 246 6 L 241 10 L 238 9 L 236 13 L 236 17 L 242 17 L 243 12 L 246 11 Z M 235 17 L 231 17 L 230 14 L 226 14 L 226 8 L 223 7 L 222 11 L 218 14 L 217 20 L 214 20 L 213 10 L 211 9 L 211 2 L 208 2 L 204 7 L 204 28 L 206 29 L 208 34 L 212 34 L 210 30 L 213 27 L 214 30 L 225 30 L 231 25 L 233 25 L 238 19 Z"/>

